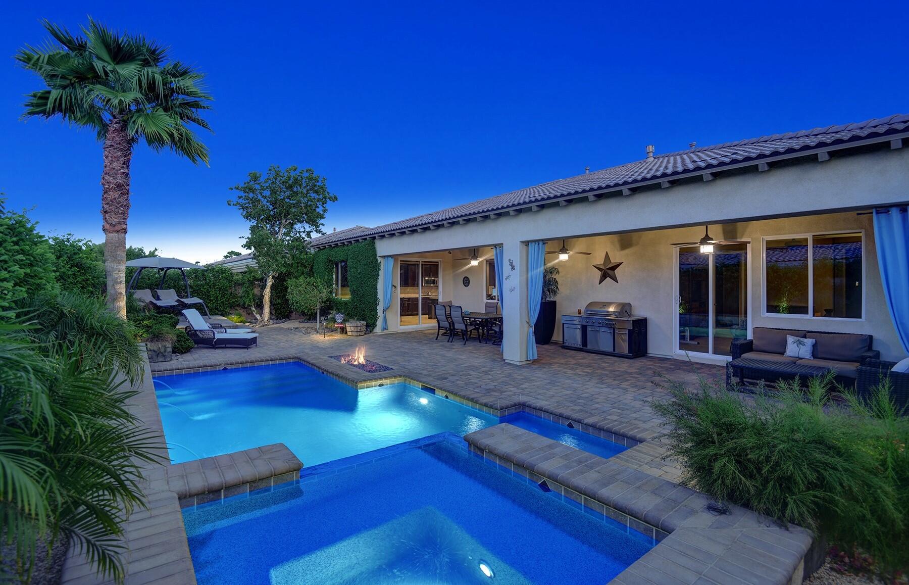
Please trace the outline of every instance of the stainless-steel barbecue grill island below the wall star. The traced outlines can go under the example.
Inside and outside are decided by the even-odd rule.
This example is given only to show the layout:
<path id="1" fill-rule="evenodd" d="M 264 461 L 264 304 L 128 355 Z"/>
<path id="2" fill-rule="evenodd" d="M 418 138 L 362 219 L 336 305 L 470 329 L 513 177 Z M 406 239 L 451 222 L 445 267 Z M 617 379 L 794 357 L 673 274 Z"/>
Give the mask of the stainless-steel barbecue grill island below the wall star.
<path id="1" fill-rule="evenodd" d="M 639 358 L 647 354 L 647 318 L 633 315 L 631 303 L 587 303 L 583 315 L 562 316 L 562 347 Z"/>

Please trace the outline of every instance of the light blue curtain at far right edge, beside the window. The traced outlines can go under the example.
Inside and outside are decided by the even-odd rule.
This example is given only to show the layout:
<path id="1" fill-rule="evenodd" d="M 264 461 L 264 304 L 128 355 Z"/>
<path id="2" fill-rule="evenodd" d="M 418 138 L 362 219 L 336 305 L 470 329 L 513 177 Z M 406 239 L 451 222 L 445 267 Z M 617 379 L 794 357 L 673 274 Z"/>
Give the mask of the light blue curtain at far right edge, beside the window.
<path id="1" fill-rule="evenodd" d="M 874 245 L 890 318 L 903 350 L 909 353 L 909 213 L 905 207 L 874 210 Z"/>

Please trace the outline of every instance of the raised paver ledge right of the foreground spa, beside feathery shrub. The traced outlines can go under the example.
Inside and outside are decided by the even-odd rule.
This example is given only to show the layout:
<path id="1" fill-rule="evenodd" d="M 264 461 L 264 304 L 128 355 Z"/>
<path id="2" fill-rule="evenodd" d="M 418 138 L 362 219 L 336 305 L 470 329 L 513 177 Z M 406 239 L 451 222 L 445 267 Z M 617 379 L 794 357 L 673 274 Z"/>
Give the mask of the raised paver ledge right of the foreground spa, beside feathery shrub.
<path id="1" fill-rule="evenodd" d="M 614 583 L 802 581 L 804 556 L 813 541 L 808 530 L 784 529 L 740 506 L 714 515 L 705 509 L 711 500 L 694 489 L 507 423 L 476 430 L 464 440 L 474 453 L 505 469 L 520 467 L 522 476 L 545 480 L 564 497 L 625 519 L 630 528 L 660 541 Z"/>

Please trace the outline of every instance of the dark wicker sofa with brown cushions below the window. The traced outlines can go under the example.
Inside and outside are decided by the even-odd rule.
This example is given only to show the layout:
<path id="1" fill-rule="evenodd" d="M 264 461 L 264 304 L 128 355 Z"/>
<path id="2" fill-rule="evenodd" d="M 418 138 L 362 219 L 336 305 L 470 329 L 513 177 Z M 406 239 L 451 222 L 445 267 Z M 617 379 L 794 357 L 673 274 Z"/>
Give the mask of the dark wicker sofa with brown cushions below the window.
<path id="1" fill-rule="evenodd" d="M 785 356 L 787 335 L 796 338 L 813 338 L 812 358 L 799 359 Z M 752 358 L 764 362 L 777 362 L 781 365 L 795 363 L 833 369 L 836 371 L 835 381 L 844 387 L 851 388 L 855 386 L 859 368 L 864 366 L 868 360 L 881 358 L 881 352 L 872 348 L 873 342 L 874 338 L 868 334 L 756 327 L 752 330 L 751 339 L 735 339 L 730 349 L 734 360 Z M 771 374 L 764 376 L 765 382 L 773 383 L 779 379 L 773 376 L 772 368 L 769 371 Z M 738 372 L 734 371 L 734 374 L 738 375 Z"/>

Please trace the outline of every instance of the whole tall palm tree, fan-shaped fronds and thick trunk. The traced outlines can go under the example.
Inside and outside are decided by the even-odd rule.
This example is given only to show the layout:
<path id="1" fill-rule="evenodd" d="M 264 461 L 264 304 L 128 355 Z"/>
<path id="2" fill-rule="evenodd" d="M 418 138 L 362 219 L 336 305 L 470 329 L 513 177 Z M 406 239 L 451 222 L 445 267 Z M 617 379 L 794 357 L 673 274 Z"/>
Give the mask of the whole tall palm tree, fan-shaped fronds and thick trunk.
<path id="1" fill-rule="evenodd" d="M 26 45 L 16 60 L 47 88 L 28 95 L 25 116 L 60 116 L 87 126 L 104 144 L 101 216 L 105 232 L 108 305 L 125 318 L 126 218 L 129 165 L 139 140 L 169 148 L 193 163 L 208 164 L 208 148 L 190 125 L 210 130 L 202 118 L 211 96 L 203 74 L 168 60 L 167 49 L 142 35 L 120 34 L 89 19 L 83 36 L 45 20 L 54 41 Z"/>

